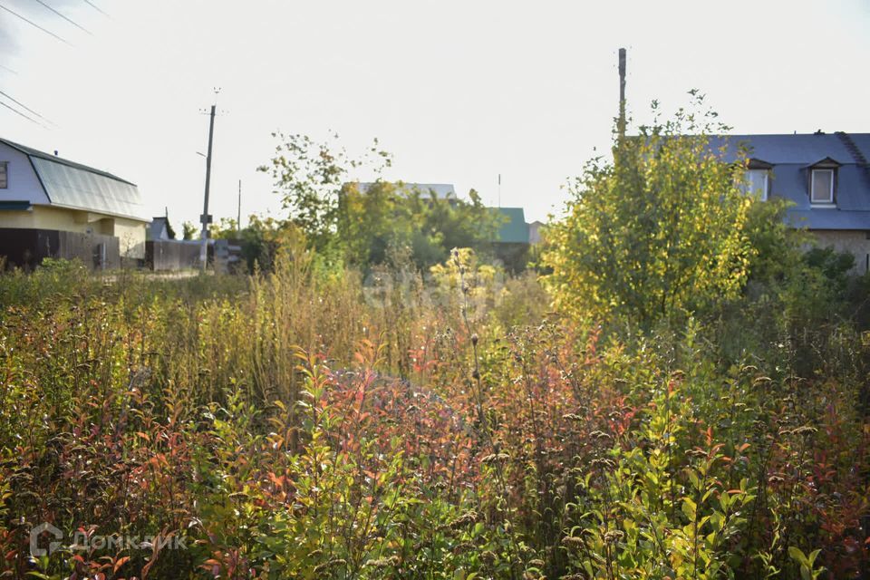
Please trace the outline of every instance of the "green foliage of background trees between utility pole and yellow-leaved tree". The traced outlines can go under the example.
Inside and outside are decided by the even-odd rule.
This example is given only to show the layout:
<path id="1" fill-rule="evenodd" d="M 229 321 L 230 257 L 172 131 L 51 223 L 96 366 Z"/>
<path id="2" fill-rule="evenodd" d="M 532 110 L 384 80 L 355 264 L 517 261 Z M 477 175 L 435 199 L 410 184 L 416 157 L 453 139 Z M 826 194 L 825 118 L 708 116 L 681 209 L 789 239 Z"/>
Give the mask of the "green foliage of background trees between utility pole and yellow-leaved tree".
<path id="1" fill-rule="evenodd" d="M 319 254 L 368 270 L 386 261 L 391 247 L 411 248 L 420 270 L 447 259 L 454 247 L 488 254 L 498 218 L 473 189 L 469 200 L 437 198 L 432 192 L 381 179 L 391 156 L 378 141 L 360 158 L 351 157 L 338 136 L 316 142 L 304 135 L 275 135 L 281 141 L 271 165 L 275 191 L 290 210 L 289 222 Z M 375 180 L 362 190 L 355 174 Z"/>

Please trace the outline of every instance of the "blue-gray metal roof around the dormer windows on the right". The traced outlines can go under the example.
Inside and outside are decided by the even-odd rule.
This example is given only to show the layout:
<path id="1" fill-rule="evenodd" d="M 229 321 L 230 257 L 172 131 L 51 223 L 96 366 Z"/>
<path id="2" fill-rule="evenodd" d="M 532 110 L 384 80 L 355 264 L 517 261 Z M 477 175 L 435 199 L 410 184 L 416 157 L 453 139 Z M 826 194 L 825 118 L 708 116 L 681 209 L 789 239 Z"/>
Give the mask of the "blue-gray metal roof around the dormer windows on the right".
<path id="1" fill-rule="evenodd" d="M 852 147 L 854 145 L 854 148 Z M 710 139 L 710 148 L 724 147 L 726 160 L 747 150 L 751 159 L 770 163 L 768 196 L 785 198 L 788 222 L 809 229 L 870 230 L 870 133 L 803 135 L 730 135 Z M 813 164 L 836 160 L 835 208 L 814 207 L 809 200 Z"/>

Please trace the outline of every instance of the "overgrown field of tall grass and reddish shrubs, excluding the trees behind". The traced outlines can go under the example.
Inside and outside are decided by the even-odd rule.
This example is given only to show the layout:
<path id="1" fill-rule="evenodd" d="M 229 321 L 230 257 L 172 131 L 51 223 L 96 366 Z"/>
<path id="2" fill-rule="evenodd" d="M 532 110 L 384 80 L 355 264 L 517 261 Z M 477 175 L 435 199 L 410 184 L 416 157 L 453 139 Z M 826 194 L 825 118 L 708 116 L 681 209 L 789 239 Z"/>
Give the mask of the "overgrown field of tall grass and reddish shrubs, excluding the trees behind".
<path id="1" fill-rule="evenodd" d="M 414 272 L 363 284 L 290 244 L 248 278 L 0 278 L 2 574 L 865 571 L 854 324 L 620 336 L 469 252 Z M 42 522 L 65 537 L 34 557 Z"/>

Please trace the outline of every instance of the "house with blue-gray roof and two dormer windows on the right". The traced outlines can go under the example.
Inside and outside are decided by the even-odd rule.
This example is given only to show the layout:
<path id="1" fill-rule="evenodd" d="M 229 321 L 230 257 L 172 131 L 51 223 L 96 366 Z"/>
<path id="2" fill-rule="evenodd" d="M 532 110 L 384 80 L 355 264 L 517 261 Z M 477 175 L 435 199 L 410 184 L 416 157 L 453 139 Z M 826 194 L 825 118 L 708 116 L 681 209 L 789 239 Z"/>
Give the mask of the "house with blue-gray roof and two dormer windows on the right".
<path id="1" fill-rule="evenodd" d="M 820 247 L 855 256 L 855 271 L 870 266 L 870 133 L 731 135 L 710 140 L 728 160 L 749 157 L 747 189 L 762 200 L 792 203 L 786 219 L 806 227 Z"/>

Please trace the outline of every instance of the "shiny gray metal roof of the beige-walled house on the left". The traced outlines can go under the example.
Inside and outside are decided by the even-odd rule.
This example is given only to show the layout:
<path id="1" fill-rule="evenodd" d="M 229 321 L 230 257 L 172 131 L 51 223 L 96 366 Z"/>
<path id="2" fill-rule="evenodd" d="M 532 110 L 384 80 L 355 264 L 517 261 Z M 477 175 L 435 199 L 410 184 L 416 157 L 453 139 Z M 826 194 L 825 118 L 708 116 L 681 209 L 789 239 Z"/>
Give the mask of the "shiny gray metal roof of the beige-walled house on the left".
<path id="1" fill-rule="evenodd" d="M 51 205 L 150 221 L 136 185 L 100 169 L 0 139 L 30 158 Z"/>

